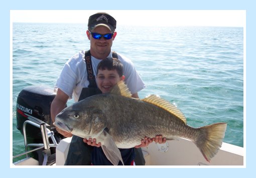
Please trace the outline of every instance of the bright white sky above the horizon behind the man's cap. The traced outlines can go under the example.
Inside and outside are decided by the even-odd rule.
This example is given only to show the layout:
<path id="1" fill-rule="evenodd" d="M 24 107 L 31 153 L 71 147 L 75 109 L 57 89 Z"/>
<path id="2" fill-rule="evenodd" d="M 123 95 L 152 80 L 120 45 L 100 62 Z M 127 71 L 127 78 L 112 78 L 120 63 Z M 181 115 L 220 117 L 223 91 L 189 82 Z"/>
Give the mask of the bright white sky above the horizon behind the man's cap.
<path id="1" fill-rule="evenodd" d="M 11 10 L 12 22 L 87 23 L 107 12 L 118 24 L 159 26 L 245 26 L 245 10 Z"/>

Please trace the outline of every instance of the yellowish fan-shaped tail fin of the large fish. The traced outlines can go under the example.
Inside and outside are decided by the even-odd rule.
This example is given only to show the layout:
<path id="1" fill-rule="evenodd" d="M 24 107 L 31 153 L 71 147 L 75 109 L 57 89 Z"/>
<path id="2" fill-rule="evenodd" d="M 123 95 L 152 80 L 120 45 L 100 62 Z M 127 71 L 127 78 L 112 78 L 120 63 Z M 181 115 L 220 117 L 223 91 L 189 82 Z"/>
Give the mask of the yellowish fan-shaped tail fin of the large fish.
<path id="1" fill-rule="evenodd" d="M 200 134 L 195 143 L 208 162 L 221 147 L 226 126 L 226 123 L 219 122 L 197 128 L 200 130 Z"/>

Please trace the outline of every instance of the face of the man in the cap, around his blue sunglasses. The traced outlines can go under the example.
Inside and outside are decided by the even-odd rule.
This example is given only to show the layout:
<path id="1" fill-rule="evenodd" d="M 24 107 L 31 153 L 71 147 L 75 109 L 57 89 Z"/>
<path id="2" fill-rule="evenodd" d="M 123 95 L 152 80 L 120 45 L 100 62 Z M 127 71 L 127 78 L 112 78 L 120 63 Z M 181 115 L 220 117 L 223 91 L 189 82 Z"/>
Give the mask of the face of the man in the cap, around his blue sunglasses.
<path id="1" fill-rule="evenodd" d="M 98 26 L 95 29 L 93 29 L 93 31 L 91 32 L 99 33 L 102 35 L 106 33 L 111 33 L 111 31 L 104 26 Z M 87 36 L 91 42 L 91 48 L 90 48 L 91 54 L 94 57 L 98 58 L 101 56 L 107 56 L 109 54 L 109 52 L 111 51 L 112 42 L 116 36 L 116 32 L 114 32 L 113 37 L 110 39 L 105 39 L 103 36 L 100 39 L 95 39 L 92 37 L 92 35 L 88 30 L 87 30 Z M 99 59 L 102 59 L 102 58 L 99 58 Z"/>

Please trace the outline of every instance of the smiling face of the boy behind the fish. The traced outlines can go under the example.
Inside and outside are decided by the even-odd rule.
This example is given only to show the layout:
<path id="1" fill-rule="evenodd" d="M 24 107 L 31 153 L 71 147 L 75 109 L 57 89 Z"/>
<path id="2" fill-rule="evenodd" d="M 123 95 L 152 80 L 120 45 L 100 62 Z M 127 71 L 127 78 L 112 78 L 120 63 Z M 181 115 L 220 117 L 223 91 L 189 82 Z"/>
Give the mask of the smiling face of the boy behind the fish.
<path id="1" fill-rule="evenodd" d="M 96 82 L 102 93 L 107 93 L 111 88 L 118 82 L 124 79 L 124 76 L 121 77 L 118 75 L 116 69 L 114 70 L 98 70 L 96 76 Z"/>

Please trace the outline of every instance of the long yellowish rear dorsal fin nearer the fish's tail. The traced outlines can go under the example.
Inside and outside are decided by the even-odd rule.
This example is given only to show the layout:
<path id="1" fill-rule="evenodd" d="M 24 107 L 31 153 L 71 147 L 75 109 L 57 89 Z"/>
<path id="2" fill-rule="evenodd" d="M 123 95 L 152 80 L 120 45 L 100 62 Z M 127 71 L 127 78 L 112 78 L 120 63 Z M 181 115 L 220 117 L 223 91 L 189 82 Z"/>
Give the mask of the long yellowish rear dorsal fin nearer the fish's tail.
<path id="1" fill-rule="evenodd" d="M 173 105 L 169 101 L 161 98 L 160 96 L 151 94 L 142 100 L 152 103 L 154 105 L 157 105 L 159 107 L 162 107 L 163 109 L 165 109 L 165 110 L 171 112 L 172 114 L 176 115 L 177 117 L 179 117 L 181 120 L 183 120 L 187 124 L 187 119 L 186 119 L 185 115 L 180 111 L 180 109 L 178 109 L 175 105 Z"/>

